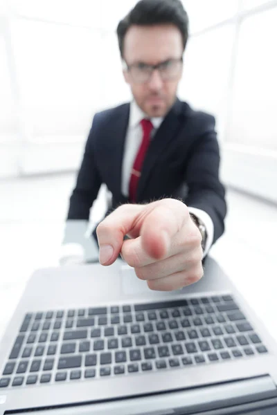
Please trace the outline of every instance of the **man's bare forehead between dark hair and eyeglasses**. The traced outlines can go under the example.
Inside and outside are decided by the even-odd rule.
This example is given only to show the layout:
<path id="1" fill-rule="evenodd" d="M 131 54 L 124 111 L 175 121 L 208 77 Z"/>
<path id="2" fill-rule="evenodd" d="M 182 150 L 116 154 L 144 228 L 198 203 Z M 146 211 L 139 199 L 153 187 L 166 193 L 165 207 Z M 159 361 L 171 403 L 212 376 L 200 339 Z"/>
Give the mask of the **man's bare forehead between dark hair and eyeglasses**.
<path id="1" fill-rule="evenodd" d="M 131 26 L 125 35 L 124 58 L 128 64 L 157 64 L 179 58 L 182 53 L 181 33 L 173 25 Z"/>

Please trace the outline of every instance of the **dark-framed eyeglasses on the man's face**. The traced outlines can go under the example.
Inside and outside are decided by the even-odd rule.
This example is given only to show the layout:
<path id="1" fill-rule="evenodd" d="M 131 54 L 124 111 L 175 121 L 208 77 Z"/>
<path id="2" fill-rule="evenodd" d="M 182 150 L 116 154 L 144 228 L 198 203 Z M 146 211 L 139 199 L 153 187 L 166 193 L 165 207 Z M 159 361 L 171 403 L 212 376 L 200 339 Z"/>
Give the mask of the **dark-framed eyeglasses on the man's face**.
<path id="1" fill-rule="evenodd" d="M 161 62 L 157 65 L 148 65 L 148 64 L 133 64 L 127 65 L 127 71 L 132 77 L 132 80 L 137 84 L 145 84 L 149 82 L 152 73 L 157 69 L 163 81 L 175 80 L 179 75 L 180 69 L 183 65 L 183 58 L 180 59 L 168 59 L 165 62 Z"/>

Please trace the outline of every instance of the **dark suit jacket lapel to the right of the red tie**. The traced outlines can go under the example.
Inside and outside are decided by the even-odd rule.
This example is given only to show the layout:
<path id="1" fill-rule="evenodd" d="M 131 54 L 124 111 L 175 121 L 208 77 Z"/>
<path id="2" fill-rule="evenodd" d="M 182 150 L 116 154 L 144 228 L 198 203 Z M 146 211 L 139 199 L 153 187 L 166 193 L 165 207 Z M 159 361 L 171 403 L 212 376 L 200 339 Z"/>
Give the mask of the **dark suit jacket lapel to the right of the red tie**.
<path id="1" fill-rule="evenodd" d="M 153 140 L 150 142 L 148 152 L 143 162 L 141 178 L 138 183 L 138 201 L 143 201 L 143 191 L 145 190 L 145 186 L 148 183 L 148 179 L 150 173 L 152 172 L 152 169 L 154 169 L 155 164 L 159 160 L 160 155 L 163 153 L 163 151 L 166 151 L 166 148 L 168 147 L 172 139 L 176 136 L 181 122 L 182 120 L 184 120 L 182 116 L 181 105 L 181 102 L 177 99 L 172 109 L 170 110 L 166 118 L 163 120 Z"/>

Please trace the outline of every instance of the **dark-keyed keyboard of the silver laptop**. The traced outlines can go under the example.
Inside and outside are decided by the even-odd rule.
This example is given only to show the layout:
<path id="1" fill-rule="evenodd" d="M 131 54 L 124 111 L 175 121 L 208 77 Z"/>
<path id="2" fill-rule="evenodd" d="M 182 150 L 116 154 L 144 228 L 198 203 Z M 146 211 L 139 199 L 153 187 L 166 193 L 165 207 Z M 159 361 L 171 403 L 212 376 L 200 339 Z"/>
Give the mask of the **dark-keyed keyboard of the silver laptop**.
<path id="1" fill-rule="evenodd" d="M 267 352 L 231 295 L 28 313 L 0 387 L 211 365 Z"/>

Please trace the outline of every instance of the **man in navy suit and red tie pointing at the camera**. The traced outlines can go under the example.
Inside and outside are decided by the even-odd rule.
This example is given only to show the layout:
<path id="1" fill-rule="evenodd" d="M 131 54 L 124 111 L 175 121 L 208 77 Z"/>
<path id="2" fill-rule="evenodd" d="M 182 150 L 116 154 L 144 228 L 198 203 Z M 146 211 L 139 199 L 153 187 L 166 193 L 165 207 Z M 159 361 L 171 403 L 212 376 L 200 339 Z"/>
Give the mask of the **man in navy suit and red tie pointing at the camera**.
<path id="1" fill-rule="evenodd" d="M 105 183 L 112 206 L 96 231 L 100 263 L 120 254 L 150 288 L 175 290 L 202 277 L 224 232 L 215 120 L 177 99 L 188 40 L 181 1 L 142 0 L 117 33 L 134 100 L 94 117 L 68 219 L 89 219 Z"/>

